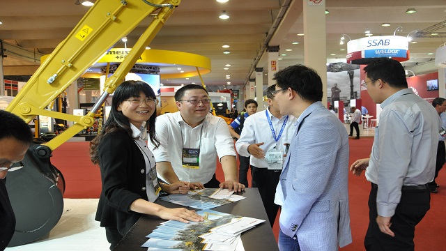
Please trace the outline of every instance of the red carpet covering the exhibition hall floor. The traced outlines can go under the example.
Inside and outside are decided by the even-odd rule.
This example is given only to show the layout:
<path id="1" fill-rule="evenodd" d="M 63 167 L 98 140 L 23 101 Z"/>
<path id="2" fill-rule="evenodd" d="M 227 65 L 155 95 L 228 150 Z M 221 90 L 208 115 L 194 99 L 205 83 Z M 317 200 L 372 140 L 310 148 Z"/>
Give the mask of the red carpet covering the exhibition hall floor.
<path id="1" fill-rule="evenodd" d="M 350 165 L 357 158 L 367 158 L 373 138 L 350 140 Z M 66 198 L 98 198 L 100 195 L 100 170 L 91 164 L 88 155 L 89 142 L 66 142 L 54 150 L 52 164 L 61 170 L 66 179 Z M 346 167 L 348 168 L 348 167 Z M 438 194 L 431 196 L 431 210 L 415 231 L 415 250 L 446 250 L 443 234 L 446 233 L 446 168 L 440 172 L 437 183 Z M 217 167 L 217 178 L 223 180 L 221 167 Z M 250 177 L 249 177 L 250 179 Z M 343 251 L 364 250 L 364 235 L 369 223 L 370 183 L 364 176 L 349 176 L 350 213 L 353 243 Z M 272 228 L 277 239 L 278 219 Z"/>

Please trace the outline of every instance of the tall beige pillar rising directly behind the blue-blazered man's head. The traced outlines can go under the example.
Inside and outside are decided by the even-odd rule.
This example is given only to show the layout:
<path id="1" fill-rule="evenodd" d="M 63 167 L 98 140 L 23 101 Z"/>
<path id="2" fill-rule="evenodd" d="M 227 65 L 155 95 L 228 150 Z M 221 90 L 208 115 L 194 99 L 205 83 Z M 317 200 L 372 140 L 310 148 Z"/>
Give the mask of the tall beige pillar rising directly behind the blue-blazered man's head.
<path id="1" fill-rule="evenodd" d="M 327 54 L 325 0 L 303 2 L 305 65 L 316 70 L 323 84 L 322 103 L 327 103 Z"/>

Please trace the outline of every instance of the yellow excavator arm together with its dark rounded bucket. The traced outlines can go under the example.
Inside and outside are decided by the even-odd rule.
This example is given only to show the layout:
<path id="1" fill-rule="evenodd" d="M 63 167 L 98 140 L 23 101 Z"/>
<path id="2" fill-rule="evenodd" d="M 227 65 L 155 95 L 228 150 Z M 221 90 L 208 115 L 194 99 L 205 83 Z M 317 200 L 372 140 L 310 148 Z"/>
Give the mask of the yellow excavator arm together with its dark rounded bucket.
<path id="1" fill-rule="evenodd" d="M 84 127 L 93 125 L 93 117 L 102 103 L 121 84 L 179 3 L 180 0 L 97 0 L 10 102 L 6 109 L 26 122 L 37 115 L 44 115 L 74 121 L 75 125 L 46 144 L 31 144 L 22 161 L 25 168 L 8 174 L 6 186 L 17 222 L 9 247 L 35 241 L 59 221 L 63 212 L 65 182 L 61 172 L 49 161 L 52 150 Z M 154 13 L 151 24 L 114 75 L 105 82 L 104 93 L 89 114 L 74 116 L 45 110 L 118 40 Z"/>

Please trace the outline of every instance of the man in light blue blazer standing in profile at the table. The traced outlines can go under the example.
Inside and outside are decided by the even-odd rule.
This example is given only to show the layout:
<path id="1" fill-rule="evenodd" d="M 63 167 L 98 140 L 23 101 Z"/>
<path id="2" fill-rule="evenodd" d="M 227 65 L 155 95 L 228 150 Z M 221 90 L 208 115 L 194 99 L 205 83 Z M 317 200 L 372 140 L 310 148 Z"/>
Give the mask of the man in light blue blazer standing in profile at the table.
<path id="1" fill-rule="evenodd" d="M 352 241 L 347 130 L 323 106 L 315 70 L 289 66 L 274 79 L 280 113 L 298 118 L 275 199 L 282 206 L 279 250 L 337 250 Z"/>

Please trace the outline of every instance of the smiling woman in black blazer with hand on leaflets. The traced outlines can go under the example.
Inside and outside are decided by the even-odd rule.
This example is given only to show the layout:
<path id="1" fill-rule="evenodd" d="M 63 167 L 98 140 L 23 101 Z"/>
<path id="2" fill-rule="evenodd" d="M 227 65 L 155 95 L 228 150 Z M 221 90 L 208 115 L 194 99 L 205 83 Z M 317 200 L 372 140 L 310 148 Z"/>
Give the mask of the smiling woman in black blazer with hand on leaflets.
<path id="1" fill-rule="evenodd" d="M 91 142 L 90 155 L 100 166 L 102 190 L 95 220 L 105 227 L 112 250 L 142 214 L 164 220 L 200 222 L 195 211 L 165 208 L 153 203 L 160 191 L 187 193 L 190 185 L 178 181 L 158 182 L 155 159 L 146 147 L 146 131 L 153 144 L 157 99 L 151 86 L 142 81 L 125 81 L 116 88 L 112 109 L 100 135 Z"/>

